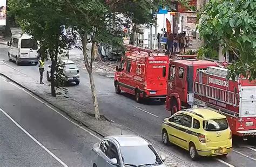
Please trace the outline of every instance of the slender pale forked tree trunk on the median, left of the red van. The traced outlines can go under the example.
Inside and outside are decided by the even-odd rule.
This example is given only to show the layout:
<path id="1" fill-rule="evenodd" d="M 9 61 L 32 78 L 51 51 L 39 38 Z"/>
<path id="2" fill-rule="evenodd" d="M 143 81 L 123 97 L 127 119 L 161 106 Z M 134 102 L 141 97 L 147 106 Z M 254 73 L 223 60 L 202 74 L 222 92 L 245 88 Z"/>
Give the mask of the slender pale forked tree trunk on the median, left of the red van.
<path id="1" fill-rule="evenodd" d="M 95 89 L 95 83 L 93 79 L 93 74 L 92 74 L 92 61 L 93 61 L 93 55 L 91 55 L 91 61 L 89 63 L 88 56 L 87 56 L 87 34 L 81 34 L 82 37 L 82 44 L 83 44 L 83 54 L 84 54 L 84 65 L 85 68 L 89 74 L 89 79 L 90 79 L 90 84 L 91 84 L 91 92 L 92 92 L 92 101 L 93 101 L 93 106 L 95 108 L 95 118 L 96 120 L 100 120 L 100 114 L 99 114 L 99 105 L 98 105 L 98 100 L 97 100 L 97 94 L 96 94 L 96 89 Z M 95 45 L 95 43 L 92 42 L 92 47 Z M 91 54 L 93 52 L 93 49 L 91 50 Z"/>

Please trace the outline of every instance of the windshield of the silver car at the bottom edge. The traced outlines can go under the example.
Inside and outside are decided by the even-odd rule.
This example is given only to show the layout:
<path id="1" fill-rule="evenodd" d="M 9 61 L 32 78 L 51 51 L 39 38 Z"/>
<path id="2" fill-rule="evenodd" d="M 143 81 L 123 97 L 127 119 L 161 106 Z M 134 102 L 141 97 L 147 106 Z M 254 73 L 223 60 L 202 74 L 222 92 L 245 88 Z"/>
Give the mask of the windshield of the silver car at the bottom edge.
<path id="1" fill-rule="evenodd" d="M 156 150 L 151 145 L 120 147 L 124 164 L 162 164 Z"/>

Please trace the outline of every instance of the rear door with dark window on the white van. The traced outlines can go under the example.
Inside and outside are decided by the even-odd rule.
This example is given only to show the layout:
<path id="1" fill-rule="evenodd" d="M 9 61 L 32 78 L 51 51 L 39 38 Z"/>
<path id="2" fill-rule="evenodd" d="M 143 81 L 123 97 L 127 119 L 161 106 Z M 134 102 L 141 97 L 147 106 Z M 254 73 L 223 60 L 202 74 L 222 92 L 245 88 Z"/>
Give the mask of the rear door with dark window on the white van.
<path id="1" fill-rule="evenodd" d="M 37 57 L 37 41 L 34 39 L 21 40 L 21 57 L 35 58 Z"/>

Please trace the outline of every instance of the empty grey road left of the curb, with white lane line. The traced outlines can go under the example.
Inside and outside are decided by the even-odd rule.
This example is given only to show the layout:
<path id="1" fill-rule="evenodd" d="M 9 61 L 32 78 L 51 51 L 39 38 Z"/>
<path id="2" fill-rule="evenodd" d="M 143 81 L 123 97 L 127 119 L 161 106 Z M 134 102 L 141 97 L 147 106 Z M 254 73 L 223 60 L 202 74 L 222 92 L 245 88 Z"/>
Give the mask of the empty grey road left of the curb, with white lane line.
<path id="1" fill-rule="evenodd" d="M 90 166 L 99 138 L 0 77 L 0 166 Z"/>

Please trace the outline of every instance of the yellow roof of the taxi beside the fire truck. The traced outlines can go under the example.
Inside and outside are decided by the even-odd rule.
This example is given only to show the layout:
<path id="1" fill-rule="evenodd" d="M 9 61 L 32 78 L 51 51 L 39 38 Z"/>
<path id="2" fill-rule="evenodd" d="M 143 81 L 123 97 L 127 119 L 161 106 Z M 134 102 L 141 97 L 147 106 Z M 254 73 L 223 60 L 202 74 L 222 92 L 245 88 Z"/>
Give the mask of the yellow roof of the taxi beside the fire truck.
<path id="1" fill-rule="evenodd" d="M 217 110 L 213 110 L 211 108 L 205 108 L 205 107 L 187 109 L 184 111 L 184 113 L 193 115 L 193 117 L 195 116 L 203 120 L 226 118 L 225 115 L 219 113 Z"/>

